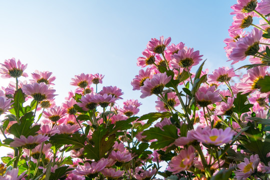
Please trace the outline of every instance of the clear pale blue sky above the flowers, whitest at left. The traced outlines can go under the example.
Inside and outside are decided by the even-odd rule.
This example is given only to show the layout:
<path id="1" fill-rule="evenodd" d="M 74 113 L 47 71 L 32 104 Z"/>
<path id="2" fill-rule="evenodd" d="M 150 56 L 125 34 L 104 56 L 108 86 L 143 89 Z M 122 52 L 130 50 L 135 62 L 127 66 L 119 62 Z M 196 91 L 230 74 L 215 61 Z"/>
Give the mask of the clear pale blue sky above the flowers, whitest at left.
<path id="1" fill-rule="evenodd" d="M 143 105 L 140 114 L 155 111 L 155 96 L 140 99 L 131 80 L 137 57 L 147 42 L 163 35 L 199 50 L 211 72 L 228 66 L 223 39 L 231 25 L 236 0 L 0 0 L 0 63 L 15 57 L 56 76 L 60 105 L 74 75 L 101 73 L 103 85 L 116 85 L 124 99 Z M 237 67 L 239 64 L 237 64 Z M 192 68 L 193 71 L 196 68 Z M 23 80 L 24 78 L 20 78 Z M 14 79 L 11 79 L 14 80 Z M 1 80 L 0 86 L 6 81 Z M 101 86 L 98 86 L 100 90 Z"/>

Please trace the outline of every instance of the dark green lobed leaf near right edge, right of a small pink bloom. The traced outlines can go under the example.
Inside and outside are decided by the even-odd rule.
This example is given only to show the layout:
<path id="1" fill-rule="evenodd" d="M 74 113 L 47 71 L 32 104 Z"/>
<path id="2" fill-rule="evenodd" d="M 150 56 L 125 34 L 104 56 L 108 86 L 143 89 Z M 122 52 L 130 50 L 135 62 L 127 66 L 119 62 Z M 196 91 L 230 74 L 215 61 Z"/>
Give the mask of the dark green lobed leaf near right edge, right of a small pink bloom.
<path id="1" fill-rule="evenodd" d="M 244 112 L 250 111 L 249 108 L 253 106 L 253 104 L 245 103 L 247 101 L 247 94 L 241 94 L 241 92 L 237 93 L 236 98 L 233 101 L 233 112 L 236 112 L 238 115 L 241 115 Z"/>

